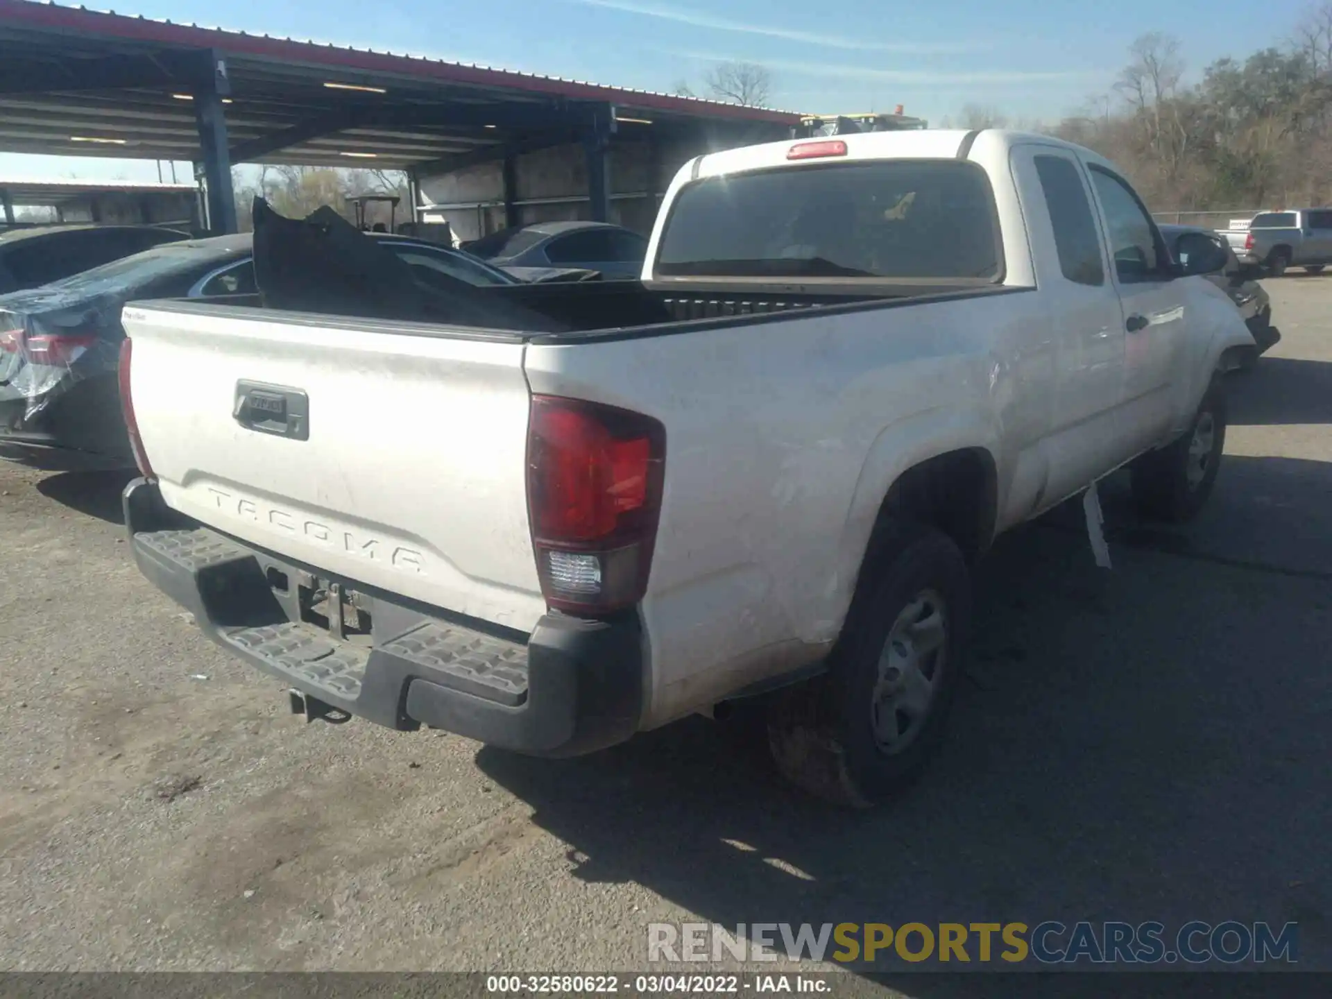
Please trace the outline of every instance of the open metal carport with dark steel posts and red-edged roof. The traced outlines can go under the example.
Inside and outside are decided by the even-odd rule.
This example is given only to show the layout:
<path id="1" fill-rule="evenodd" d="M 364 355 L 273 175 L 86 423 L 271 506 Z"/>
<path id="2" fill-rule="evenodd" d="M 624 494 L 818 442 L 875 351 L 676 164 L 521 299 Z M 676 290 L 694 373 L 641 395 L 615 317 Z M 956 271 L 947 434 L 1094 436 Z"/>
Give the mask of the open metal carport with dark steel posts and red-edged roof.
<path id="1" fill-rule="evenodd" d="M 591 217 L 605 220 L 607 149 L 647 120 L 654 141 L 742 144 L 779 139 L 799 116 L 0 0 L 0 152 L 193 161 L 213 232 L 236 230 L 233 164 L 414 177 L 570 141 L 586 152 Z"/>

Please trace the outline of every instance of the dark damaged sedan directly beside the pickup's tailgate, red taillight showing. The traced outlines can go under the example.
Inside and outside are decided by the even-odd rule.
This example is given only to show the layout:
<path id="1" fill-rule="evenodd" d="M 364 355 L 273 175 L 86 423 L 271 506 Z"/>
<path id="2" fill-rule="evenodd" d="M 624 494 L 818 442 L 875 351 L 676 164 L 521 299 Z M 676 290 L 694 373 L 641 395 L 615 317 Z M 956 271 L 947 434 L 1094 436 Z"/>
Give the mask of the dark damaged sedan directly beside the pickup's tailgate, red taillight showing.
<path id="1" fill-rule="evenodd" d="M 393 234 L 417 280 L 521 284 L 466 253 Z M 0 296 L 0 458 L 52 469 L 129 468 L 116 380 L 120 310 L 139 298 L 253 294 L 248 233 L 172 242 L 25 292 Z"/>

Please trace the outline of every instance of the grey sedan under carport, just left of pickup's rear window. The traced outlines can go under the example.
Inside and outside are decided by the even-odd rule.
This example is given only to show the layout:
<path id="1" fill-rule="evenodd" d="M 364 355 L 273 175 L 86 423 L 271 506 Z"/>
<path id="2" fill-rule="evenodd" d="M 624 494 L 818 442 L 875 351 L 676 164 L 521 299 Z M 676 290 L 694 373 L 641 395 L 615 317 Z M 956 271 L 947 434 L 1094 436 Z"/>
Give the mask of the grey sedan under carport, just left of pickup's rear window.
<path id="1" fill-rule="evenodd" d="M 537 222 L 501 229 L 464 249 L 496 266 L 523 277 L 527 268 L 577 268 L 603 277 L 638 277 L 647 256 L 647 240 L 606 222 Z"/>

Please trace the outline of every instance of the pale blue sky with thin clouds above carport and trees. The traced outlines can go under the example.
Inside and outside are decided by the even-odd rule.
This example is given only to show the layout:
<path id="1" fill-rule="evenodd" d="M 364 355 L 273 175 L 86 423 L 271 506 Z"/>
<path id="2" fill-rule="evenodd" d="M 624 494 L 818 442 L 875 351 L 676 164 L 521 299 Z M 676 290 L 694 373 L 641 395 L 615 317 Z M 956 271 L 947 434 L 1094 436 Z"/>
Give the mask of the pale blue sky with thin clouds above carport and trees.
<path id="1" fill-rule="evenodd" d="M 902 104 L 931 124 L 966 104 L 1058 120 L 1111 92 L 1128 45 L 1144 32 L 1177 36 L 1197 76 L 1221 56 L 1280 45 L 1311 7 L 1311 0 L 123 3 L 117 13 L 654 91 L 687 81 L 701 93 L 710 67 L 742 60 L 770 69 L 774 107 L 829 113 Z M 177 166 L 180 180 L 189 174 L 188 164 Z M 157 166 L 0 153 L 4 176 L 156 180 Z"/>

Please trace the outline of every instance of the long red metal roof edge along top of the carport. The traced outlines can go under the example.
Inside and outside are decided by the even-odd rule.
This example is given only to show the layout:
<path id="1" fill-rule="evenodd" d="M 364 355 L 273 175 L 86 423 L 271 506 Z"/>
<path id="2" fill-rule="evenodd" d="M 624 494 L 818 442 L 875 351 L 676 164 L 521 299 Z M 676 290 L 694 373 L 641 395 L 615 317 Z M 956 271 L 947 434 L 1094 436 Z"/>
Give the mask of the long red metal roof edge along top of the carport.
<path id="1" fill-rule="evenodd" d="M 31 0 L 0 0 L 0 25 L 77 33 L 85 39 L 141 41 L 181 48 L 213 48 L 220 53 L 274 63 L 304 63 L 330 69 L 361 73 L 410 76 L 422 81 L 488 87 L 525 93 L 569 97 L 575 100 L 613 101 L 633 108 L 650 108 L 693 117 L 731 119 L 797 124 L 799 115 L 767 108 L 742 108 L 735 104 L 675 97 L 651 91 L 603 87 L 594 83 L 538 76 L 511 69 L 465 65 L 421 56 L 394 55 L 369 49 L 345 48 L 296 39 L 274 39 L 224 28 L 133 17 L 85 7 L 63 7 Z"/>

